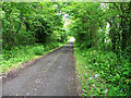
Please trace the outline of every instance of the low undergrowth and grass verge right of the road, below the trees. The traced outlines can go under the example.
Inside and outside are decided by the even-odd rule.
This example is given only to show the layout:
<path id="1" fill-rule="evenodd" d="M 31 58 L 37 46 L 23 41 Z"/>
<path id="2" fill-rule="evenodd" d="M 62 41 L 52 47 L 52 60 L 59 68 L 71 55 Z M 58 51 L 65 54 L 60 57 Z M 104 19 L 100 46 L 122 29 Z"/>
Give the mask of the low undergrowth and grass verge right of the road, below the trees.
<path id="1" fill-rule="evenodd" d="M 93 48 L 80 50 L 76 47 L 74 57 L 82 96 L 128 96 L 130 94 L 131 79 L 122 74 L 122 68 L 129 71 L 128 60 L 122 60 L 121 65 L 118 65 L 117 56 L 111 51 L 103 52 Z"/>

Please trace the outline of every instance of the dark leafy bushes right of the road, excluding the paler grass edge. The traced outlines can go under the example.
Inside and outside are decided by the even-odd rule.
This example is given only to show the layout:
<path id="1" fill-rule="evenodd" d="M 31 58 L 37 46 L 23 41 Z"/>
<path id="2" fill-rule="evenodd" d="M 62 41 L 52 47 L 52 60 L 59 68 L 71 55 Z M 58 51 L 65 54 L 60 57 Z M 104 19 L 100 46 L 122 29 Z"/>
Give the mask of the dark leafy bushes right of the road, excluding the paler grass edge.
<path id="1" fill-rule="evenodd" d="M 102 51 L 96 48 L 81 50 L 81 54 L 85 58 L 86 65 L 84 66 L 99 74 L 99 77 L 106 82 L 107 88 L 110 89 L 109 96 L 130 94 L 129 59 L 119 59 L 112 51 Z"/>

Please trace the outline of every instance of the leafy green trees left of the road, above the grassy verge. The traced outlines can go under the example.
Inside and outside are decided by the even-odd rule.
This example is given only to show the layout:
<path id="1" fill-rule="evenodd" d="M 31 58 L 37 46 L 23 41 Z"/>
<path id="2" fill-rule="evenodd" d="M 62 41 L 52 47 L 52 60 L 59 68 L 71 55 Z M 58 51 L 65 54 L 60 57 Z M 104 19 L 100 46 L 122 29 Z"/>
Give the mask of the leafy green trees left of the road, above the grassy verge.
<path id="1" fill-rule="evenodd" d="M 14 46 L 50 42 L 57 40 L 57 37 L 62 39 L 66 32 L 61 33 L 62 13 L 58 8 L 61 5 L 53 2 L 3 2 L 2 47 L 10 50 Z M 57 30 L 59 36 L 51 37 L 53 30 Z M 48 40 L 49 37 L 51 40 Z"/>

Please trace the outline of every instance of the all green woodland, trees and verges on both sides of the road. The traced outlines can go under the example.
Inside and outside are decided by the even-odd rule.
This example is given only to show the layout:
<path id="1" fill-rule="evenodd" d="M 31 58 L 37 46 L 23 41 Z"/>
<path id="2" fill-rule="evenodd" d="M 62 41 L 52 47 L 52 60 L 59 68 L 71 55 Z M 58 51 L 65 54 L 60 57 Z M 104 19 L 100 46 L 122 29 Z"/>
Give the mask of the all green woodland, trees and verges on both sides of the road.
<path id="1" fill-rule="evenodd" d="M 1 12 L 2 72 L 73 36 L 82 95 L 131 96 L 131 2 L 3 2 Z"/>

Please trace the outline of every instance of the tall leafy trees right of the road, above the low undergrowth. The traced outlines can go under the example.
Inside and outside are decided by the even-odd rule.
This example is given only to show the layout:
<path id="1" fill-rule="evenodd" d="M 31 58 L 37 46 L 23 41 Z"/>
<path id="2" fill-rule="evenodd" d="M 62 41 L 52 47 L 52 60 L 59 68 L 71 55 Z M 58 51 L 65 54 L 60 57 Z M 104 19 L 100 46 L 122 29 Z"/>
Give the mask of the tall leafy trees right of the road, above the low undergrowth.
<path id="1" fill-rule="evenodd" d="M 74 2 L 69 5 L 72 17 L 68 27 L 82 49 L 100 46 L 120 56 L 130 46 L 130 9 L 131 2 Z"/>

